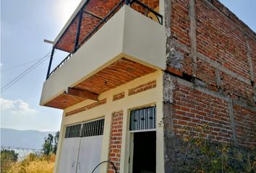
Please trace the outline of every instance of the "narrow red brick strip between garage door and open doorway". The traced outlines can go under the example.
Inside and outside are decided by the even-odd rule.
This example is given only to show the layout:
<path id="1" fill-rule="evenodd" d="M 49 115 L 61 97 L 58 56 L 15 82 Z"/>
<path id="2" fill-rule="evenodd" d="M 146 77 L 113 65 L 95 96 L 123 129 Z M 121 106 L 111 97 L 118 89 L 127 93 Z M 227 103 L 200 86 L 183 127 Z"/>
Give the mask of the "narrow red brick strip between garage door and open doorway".
<path id="1" fill-rule="evenodd" d="M 120 171 L 121 133 L 123 127 L 123 110 L 113 112 L 111 122 L 111 136 L 109 144 L 109 161 L 112 161 L 116 170 Z M 114 167 L 109 164 L 108 173 L 114 173 Z"/>

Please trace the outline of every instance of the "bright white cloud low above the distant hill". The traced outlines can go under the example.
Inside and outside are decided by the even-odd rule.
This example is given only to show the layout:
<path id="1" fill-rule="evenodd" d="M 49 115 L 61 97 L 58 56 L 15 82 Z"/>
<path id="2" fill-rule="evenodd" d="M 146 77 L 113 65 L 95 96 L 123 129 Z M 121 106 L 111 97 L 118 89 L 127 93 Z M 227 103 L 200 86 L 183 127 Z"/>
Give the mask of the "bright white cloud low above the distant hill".
<path id="1" fill-rule="evenodd" d="M 30 108 L 27 102 L 23 102 L 22 99 L 10 100 L 0 98 L 1 110 L 4 112 L 11 112 L 13 114 L 36 114 L 37 110 Z"/>

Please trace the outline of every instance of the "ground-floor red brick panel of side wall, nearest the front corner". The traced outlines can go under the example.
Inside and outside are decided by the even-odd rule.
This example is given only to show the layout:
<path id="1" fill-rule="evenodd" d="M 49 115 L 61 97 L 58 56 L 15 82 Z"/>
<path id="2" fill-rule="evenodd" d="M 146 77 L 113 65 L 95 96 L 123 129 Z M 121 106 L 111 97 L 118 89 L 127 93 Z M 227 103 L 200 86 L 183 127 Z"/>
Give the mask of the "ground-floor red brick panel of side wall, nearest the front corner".
<path id="1" fill-rule="evenodd" d="M 180 84 L 174 91 L 174 133 L 191 130 L 197 125 L 205 126 L 202 136 L 213 141 L 230 142 L 231 120 L 228 103 L 208 94 Z M 193 133 L 192 136 L 199 134 Z"/>

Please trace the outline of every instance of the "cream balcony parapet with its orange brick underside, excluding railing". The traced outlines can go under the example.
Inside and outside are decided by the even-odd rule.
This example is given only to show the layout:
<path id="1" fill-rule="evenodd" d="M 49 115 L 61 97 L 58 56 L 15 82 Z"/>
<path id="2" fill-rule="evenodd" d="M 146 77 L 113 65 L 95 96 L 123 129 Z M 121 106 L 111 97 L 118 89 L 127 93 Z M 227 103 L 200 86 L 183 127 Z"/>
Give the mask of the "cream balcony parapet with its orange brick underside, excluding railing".
<path id="1" fill-rule="evenodd" d="M 165 67 L 165 28 L 124 5 L 44 82 L 40 105 L 64 109 L 85 99 L 69 97 L 68 88 L 85 86 L 86 91 L 101 94 Z M 119 76 L 106 71 L 119 74 L 119 81 Z M 104 80 L 110 82 L 106 87 L 101 84 Z"/>

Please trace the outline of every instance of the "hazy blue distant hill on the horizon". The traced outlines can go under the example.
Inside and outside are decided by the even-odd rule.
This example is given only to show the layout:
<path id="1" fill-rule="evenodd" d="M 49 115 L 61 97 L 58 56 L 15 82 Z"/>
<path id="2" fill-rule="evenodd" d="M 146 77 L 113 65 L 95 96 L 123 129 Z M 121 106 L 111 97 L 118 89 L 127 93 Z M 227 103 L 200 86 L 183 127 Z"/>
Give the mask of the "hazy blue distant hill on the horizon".
<path id="1" fill-rule="evenodd" d="M 9 148 L 41 149 L 44 138 L 55 132 L 41 132 L 38 130 L 15 130 L 1 128 L 1 146 Z"/>

